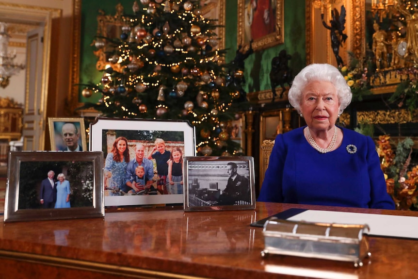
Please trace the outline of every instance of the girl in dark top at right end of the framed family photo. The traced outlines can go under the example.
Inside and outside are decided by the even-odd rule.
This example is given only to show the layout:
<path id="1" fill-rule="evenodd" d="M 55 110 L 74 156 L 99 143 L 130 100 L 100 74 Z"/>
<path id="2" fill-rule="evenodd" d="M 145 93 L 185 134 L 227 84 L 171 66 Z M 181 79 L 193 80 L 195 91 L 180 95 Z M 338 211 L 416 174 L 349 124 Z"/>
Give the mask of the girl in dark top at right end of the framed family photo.
<path id="1" fill-rule="evenodd" d="M 171 160 L 168 163 L 168 184 L 170 194 L 183 194 L 183 156 L 181 149 L 171 150 Z"/>

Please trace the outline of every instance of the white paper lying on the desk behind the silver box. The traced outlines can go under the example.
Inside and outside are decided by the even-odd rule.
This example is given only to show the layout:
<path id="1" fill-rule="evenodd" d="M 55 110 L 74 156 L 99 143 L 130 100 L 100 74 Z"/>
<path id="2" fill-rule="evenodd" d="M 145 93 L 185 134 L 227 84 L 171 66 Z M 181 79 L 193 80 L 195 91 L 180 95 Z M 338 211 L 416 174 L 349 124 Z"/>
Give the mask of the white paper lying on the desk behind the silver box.
<path id="1" fill-rule="evenodd" d="M 307 210 L 288 220 L 336 224 L 367 224 L 369 235 L 418 239 L 418 217 Z"/>

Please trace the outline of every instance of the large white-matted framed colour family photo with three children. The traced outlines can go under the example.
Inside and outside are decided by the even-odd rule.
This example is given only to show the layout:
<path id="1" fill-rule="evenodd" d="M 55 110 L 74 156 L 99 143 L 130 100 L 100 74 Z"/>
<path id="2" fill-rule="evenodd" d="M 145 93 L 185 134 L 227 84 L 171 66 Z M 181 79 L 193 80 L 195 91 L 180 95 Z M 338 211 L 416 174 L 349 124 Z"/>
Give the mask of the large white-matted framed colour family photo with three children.
<path id="1" fill-rule="evenodd" d="M 195 147 L 188 121 L 97 117 L 90 150 L 105 158 L 105 206 L 182 204 L 183 158 Z"/>

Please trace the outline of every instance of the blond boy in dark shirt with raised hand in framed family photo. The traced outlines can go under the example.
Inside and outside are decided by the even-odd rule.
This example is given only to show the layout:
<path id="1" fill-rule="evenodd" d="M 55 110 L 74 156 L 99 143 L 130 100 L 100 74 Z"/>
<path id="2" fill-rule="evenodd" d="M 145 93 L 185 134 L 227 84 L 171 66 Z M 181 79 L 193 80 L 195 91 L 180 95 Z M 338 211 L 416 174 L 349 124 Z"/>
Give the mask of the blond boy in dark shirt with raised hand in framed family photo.
<path id="1" fill-rule="evenodd" d="M 168 194 L 167 187 L 165 187 L 168 175 L 168 162 L 171 158 L 171 152 L 165 150 L 164 140 L 158 138 L 154 142 L 155 146 L 148 155 L 148 159 L 155 159 L 157 164 L 157 173 L 160 180 L 157 181 L 157 190 L 162 194 Z"/>

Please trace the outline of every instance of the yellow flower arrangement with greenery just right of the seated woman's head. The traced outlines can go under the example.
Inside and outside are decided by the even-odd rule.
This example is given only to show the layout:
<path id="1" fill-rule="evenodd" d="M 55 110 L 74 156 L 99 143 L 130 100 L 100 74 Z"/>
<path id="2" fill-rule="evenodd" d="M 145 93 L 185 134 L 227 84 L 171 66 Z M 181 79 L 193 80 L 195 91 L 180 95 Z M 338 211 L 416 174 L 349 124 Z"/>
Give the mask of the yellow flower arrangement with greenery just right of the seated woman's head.
<path id="1" fill-rule="evenodd" d="M 366 95 L 370 95 L 370 84 L 368 82 L 368 69 L 363 67 L 360 60 L 355 58 L 353 52 L 348 52 L 350 56 L 350 63 L 348 66 L 343 66 L 339 70 L 347 81 L 353 93 L 353 100 L 361 101 Z"/>

